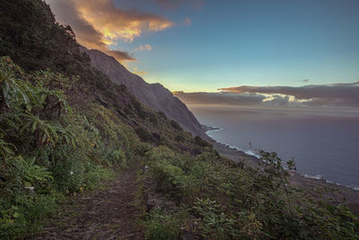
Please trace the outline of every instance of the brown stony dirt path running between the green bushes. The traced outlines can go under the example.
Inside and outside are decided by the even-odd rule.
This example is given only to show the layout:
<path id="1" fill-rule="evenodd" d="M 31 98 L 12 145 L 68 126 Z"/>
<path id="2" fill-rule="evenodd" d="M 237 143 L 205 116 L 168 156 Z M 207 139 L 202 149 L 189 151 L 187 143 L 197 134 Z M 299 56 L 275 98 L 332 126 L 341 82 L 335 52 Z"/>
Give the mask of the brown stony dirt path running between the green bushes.
<path id="1" fill-rule="evenodd" d="M 75 197 L 36 239 L 144 239 L 136 225 L 136 177 L 131 167 L 105 190 Z"/>

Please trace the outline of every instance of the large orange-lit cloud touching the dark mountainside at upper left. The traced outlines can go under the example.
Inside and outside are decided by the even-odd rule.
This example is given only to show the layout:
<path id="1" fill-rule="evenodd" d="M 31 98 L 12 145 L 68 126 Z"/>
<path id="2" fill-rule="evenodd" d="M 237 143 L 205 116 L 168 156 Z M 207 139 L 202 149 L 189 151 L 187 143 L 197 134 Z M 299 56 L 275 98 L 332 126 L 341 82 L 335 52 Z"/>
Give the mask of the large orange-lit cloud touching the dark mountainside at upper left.
<path id="1" fill-rule="evenodd" d="M 89 49 L 100 49 L 118 60 L 135 60 L 126 51 L 109 50 L 118 40 L 131 42 L 144 32 L 163 31 L 174 23 L 157 14 L 126 11 L 112 0 L 46 0 L 57 22 L 69 24 L 76 39 Z"/>

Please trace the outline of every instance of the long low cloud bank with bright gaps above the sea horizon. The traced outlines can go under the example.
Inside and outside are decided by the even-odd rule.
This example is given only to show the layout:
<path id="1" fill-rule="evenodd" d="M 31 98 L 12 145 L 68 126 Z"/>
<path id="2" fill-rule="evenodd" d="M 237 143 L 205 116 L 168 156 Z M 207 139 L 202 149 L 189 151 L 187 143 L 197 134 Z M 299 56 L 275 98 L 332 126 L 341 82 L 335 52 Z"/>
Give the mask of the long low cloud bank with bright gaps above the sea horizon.
<path id="1" fill-rule="evenodd" d="M 174 94 L 188 104 L 359 107 L 359 82 L 293 86 L 236 86 L 219 93 Z"/>

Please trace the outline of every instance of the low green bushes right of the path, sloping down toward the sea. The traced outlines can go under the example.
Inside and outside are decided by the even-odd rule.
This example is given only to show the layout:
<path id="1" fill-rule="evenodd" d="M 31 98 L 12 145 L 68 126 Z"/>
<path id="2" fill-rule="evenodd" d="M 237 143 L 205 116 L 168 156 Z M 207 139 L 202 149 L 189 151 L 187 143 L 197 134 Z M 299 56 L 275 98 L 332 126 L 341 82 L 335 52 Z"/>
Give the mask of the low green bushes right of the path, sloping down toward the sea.
<path id="1" fill-rule="evenodd" d="M 276 153 L 259 154 L 260 168 L 223 161 L 213 150 L 187 156 L 158 147 L 147 152 L 145 164 L 159 189 L 196 218 L 193 235 L 214 239 L 358 238 L 359 220 L 344 205 L 315 200 L 320 197 L 313 192 L 293 187 Z M 286 166 L 294 169 L 292 161 Z"/>

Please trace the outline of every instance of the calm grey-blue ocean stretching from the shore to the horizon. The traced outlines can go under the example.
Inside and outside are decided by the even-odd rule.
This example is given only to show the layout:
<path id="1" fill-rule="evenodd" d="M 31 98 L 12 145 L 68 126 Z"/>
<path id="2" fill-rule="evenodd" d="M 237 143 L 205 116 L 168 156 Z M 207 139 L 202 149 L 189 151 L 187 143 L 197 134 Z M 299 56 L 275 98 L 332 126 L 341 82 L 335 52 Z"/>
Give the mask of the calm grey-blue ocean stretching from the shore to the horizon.
<path id="1" fill-rule="evenodd" d="M 197 120 L 219 128 L 216 141 L 258 156 L 275 151 L 307 177 L 359 190 L 359 114 L 188 106 Z"/>

